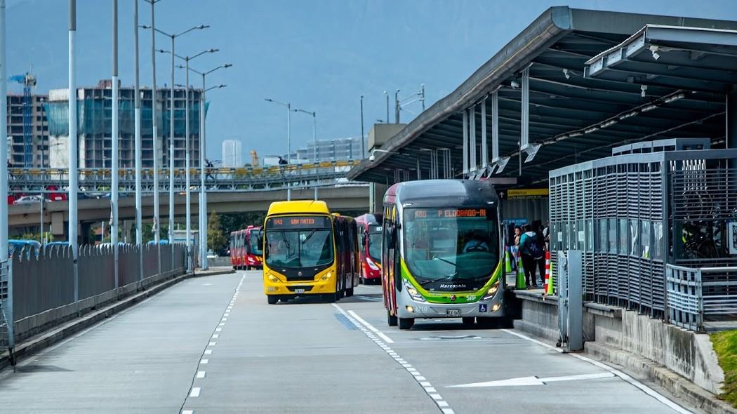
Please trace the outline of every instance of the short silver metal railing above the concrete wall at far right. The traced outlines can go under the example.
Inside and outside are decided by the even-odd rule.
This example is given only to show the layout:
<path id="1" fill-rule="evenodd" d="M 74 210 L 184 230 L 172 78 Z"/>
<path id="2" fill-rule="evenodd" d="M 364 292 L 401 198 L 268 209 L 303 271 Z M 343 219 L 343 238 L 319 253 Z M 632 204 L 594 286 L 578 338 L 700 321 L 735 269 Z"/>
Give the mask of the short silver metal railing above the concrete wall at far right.
<path id="1" fill-rule="evenodd" d="M 705 320 L 737 316 L 737 267 L 666 264 L 666 280 L 674 325 L 704 331 Z"/>

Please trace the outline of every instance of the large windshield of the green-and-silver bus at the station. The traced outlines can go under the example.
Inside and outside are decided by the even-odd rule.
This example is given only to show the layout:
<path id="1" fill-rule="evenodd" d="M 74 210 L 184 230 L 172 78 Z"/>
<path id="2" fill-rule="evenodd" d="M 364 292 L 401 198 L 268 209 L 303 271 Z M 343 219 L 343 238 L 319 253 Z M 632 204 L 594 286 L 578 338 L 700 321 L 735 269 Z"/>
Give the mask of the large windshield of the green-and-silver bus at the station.
<path id="1" fill-rule="evenodd" d="M 406 208 L 405 262 L 427 290 L 477 289 L 499 259 L 493 208 Z"/>

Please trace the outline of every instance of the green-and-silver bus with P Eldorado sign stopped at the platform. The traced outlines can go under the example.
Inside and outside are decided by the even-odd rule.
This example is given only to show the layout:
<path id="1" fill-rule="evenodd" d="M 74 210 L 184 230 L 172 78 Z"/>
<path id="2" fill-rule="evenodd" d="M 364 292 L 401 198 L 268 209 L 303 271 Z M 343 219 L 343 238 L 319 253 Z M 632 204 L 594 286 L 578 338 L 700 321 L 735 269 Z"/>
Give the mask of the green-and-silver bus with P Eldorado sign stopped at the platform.
<path id="1" fill-rule="evenodd" d="M 499 198 L 486 180 L 397 183 L 384 196 L 382 286 L 389 326 L 504 318 Z"/>

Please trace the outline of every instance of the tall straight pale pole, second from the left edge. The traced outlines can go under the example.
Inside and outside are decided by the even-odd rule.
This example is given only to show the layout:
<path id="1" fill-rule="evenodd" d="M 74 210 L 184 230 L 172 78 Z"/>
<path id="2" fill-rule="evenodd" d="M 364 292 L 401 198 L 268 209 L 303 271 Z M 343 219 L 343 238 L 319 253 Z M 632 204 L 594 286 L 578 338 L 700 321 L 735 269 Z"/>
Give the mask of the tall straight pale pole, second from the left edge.
<path id="1" fill-rule="evenodd" d="M 74 263 L 74 301 L 80 298 L 77 259 L 80 246 L 77 243 L 77 83 L 74 78 L 74 34 L 77 32 L 77 1 L 69 0 L 69 244 Z M 5 145 L 5 143 L 1 143 Z M 4 203 L 3 203 L 4 204 Z M 2 254 L 5 254 L 4 250 Z"/>

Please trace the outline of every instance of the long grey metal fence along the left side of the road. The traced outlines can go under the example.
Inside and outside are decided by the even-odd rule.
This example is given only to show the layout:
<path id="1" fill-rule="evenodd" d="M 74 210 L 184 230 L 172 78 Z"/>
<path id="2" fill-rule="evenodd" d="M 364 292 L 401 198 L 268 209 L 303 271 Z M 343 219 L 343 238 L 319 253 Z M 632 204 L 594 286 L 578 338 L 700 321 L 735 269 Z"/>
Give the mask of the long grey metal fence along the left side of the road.
<path id="1" fill-rule="evenodd" d="M 119 247 L 119 287 L 115 286 L 115 262 L 111 246 L 85 245 L 78 260 L 79 298 L 74 302 L 74 264 L 71 247 L 53 245 L 15 251 L 10 258 L 13 282 L 15 339 L 29 337 L 94 307 L 130 295 L 164 278 L 184 273 L 184 245 L 161 246 L 161 275 L 157 275 L 156 246 Z M 171 249 L 175 262 L 171 263 Z M 139 254 L 144 275 L 138 274 Z M 0 281 L 0 290 L 4 288 Z M 0 292 L 1 294 L 1 292 Z M 4 301 L 2 302 L 5 303 Z M 7 310 L 7 309 L 6 309 Z M 10 314 L 10 312 L 4 312 Z M 1 319 L 0 319 L 1 320 Z M 0 322 L 0 346 L 7 345 L 7 325 Z"/>

